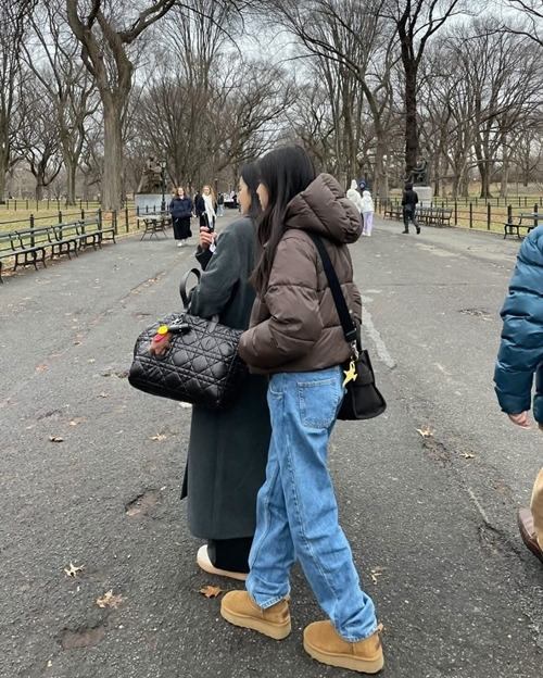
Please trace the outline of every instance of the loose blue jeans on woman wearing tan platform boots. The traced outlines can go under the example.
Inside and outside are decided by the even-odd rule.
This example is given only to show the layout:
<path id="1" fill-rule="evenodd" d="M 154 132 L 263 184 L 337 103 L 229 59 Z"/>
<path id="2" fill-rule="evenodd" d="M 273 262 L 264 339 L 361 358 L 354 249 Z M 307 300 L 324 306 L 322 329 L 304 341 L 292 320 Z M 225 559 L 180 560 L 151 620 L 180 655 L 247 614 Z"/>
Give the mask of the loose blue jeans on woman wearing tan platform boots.
<path id="1" fill-rule="evenodd" d="M 341 400 L 343 374 L 281 373 L 272 377 L 272 440 L 256 506 L 256 532 L 247 589 L 263 608 L 290 592 L 299 560 L 338 633 L 356 642 L 377 630 L 371 599 L 362 591 L 351 548 L 338 523 L 326 465 L 328 440 Z"/>

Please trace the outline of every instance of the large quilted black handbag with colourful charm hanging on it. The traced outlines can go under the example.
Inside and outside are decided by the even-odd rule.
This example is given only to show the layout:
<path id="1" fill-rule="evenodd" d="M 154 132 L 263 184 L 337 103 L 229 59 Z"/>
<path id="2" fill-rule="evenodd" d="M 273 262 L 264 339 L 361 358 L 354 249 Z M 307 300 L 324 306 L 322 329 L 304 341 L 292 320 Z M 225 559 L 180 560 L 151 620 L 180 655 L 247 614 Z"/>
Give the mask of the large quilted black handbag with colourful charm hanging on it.
<path id="1" fill-rule="evenodd" d="M 249 374 L 238 354 L 243 330 L 191 315 L 187 298 L 187 279 L 200 271 L 191 268 L 181 279 L 179 292 L 185 310 L 171 313 L 141 332 L 134 348 L 128 381 L 134 388 L 172 400 L 222 410 L 238 395 Z M 166 326 L 172 332 L 171 346 L 163 355 L 149 352 L 149 344 Z"/>

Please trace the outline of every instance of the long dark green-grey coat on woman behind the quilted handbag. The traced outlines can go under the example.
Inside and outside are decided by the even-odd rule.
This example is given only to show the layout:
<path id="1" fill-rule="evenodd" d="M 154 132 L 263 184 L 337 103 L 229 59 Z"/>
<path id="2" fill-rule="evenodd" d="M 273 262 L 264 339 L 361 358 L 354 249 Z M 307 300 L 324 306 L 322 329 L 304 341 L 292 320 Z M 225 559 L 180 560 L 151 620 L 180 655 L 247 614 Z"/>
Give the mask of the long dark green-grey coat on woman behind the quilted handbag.
<path id="1" fill-rule="evenodd" d="M 254 265 L 256 231 L 240 217 L 217 240 L 190 297 L 194 315 L 219 314 L 229 327 L 247 329 L 254 301 L 248 284 Z M 189 530 L 203 539 L 252 537 L 256 493 L 264 482 L 272 434 L 266 402 L 267 377 L 251 375 L 239 400 L 223 412 L 193 406 L 185 487 Z"/>

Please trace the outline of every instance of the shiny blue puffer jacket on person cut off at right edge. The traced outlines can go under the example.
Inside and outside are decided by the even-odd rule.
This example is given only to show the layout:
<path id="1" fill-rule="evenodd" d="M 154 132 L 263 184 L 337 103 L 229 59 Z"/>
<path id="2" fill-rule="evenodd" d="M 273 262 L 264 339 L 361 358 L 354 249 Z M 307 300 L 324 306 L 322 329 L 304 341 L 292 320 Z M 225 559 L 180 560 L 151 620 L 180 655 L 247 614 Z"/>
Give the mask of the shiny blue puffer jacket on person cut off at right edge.
<path id="1" fill-rule="evenodd" d="M 530 410 L 543 424 L 543 226 L 523 240 L 502 309 L 502 343 L 494 371 L 500 406 L 507 414 Z"/>

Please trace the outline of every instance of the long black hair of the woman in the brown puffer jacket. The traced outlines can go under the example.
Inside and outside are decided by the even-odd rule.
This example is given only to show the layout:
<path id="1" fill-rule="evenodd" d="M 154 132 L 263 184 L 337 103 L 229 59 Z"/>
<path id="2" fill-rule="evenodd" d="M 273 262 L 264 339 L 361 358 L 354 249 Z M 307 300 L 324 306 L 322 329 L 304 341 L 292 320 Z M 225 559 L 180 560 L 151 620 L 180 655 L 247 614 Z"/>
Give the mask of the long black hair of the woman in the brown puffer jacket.
<path id="1" fill-rule="evenodd" d="M 268 203 L 258 221 L 261 253 L 251 282 L 258 293 L 267 287 L 275 253 L 285 230 L 289 202 L 315 179 L 315 167 L 300 146 L 283 146 L 257 162 L 258 183 L 268 192 Z"/>

